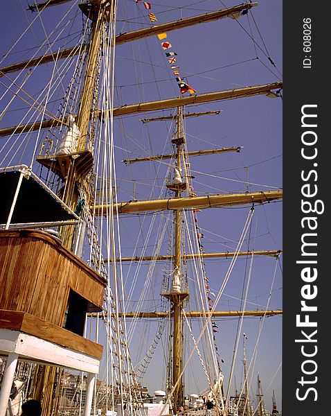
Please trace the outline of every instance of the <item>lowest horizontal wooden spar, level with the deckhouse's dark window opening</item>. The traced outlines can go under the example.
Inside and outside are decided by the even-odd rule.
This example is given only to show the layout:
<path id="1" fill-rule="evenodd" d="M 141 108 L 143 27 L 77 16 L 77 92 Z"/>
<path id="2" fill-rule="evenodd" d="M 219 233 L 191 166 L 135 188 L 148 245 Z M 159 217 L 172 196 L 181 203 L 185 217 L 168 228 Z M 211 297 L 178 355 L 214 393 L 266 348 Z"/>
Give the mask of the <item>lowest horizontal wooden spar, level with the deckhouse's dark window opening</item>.
<path id="1" fill-rule="evenodd" d="M 235 317 L 235 316 L 273 316 L 281 315 L 283 311 L 213 311 L 213 312 L 202 312 L 202 311 L 190 311 L 186 312 L 185 315 L 187 318 L 208 318 L 208 317 Z M 88 313 L 88 316 L 96 317 L 98 313 Z M 99 313 L 99 317 L 104 316 L 102 313 Z M 107 313 L 105 313 L 107 316 Z M 113 316 L 113 314 L 112 314 Z M 169 312 L 125 312 L 118 313 L 120 318 L 168 318 L 170 316 Z"/>

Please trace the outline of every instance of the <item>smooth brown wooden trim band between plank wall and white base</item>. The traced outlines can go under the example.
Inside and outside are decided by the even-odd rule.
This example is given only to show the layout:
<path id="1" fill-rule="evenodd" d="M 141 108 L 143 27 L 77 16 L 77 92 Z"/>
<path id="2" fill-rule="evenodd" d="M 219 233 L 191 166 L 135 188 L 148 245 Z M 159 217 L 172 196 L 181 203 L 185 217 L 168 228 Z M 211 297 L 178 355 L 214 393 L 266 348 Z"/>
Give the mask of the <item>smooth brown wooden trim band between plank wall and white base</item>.
<path id="1" fill-rule="evenodd" d="M 98 360 L 102 357 L 102 345 L 57 327 L 51 322 L 36 318 L 30 313 L 0 309 L 0 328 L 28 333 L 51 343 L 62 345 L 62 347 L 98 358 Z"/>

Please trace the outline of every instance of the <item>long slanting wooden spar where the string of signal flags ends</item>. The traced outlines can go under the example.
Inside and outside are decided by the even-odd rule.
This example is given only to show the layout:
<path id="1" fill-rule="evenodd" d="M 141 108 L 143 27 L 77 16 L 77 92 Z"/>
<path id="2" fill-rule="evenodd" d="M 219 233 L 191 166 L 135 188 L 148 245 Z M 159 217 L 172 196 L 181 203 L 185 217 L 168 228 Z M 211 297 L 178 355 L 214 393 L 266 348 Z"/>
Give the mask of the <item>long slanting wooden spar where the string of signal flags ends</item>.
<path id="1" fill-rule="evenodd" d="M 123 105 L 122 107 L 114 108 L 113 116 L 125 116 L 127 114 L 134 114 L 139 112 L 166 110 L 170 108 L 177 108 L 183 105 L 211 103 L 212 101 L 231 100 L 233 98 L 246 98 L 261 94 L 268 94 L 269 92 L 271 92 L 272 89 L 280 89 L 282 87 L 283 83 L 278 82 L 265 85 L 255 85 L 254 87 L 227 89 L 225 91 L 197 94 L 195 96 L 189 96 L 184 98 L 168 98 L 167 100 L 150 101 L 149 103 Z M 99 111 L 98 114 L 99 117 L 102 118 L 102 112 Z M 59 127 L 62 123 L 66 122 L 67 117 L 65 116 L 61 123 L 58 120 L 49 119 L 42 121 L 42 123 L 40 123 L 40 121 L 36 121 L 35 123 L 14 125 L 12 127 L 1 128 L 0 137 L 10 136 L 21 132 L 33 132 L 35 130 L 39 130 L 39 128 L 44 129 L 50 127 Z"/>

